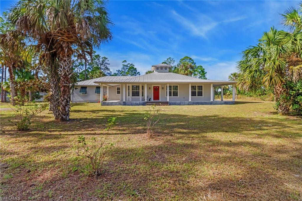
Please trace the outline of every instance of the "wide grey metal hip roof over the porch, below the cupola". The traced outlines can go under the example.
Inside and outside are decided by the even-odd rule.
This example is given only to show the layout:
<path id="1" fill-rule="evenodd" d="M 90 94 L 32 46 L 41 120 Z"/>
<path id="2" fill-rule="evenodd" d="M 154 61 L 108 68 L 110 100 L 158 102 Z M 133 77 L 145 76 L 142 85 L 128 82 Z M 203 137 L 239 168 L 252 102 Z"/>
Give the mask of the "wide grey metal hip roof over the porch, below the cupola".
<path id="1" fill-rule="evenodd" d="M 108 77 L 108 76 L 107 76 Z M 114 76 L 112 76 L 114 77 Z M 119 76 L 123 77 L 123 76 Z M 224 81 L 224 80 L 206 80 L 206 79 L 199 79 L 194 78 L 187 75 L 181 75 L 177 73 L 172 72 L 153 72 L 146 75 L 136 76 L 136 77 L 130 77 L 130 76 L 124 76 L 127 77 L 127 79 L 103 79 L 103 80 L 97 80 L 95 83 L 226 83 L 226 84 L 235 84 L 236 81 Z"/>

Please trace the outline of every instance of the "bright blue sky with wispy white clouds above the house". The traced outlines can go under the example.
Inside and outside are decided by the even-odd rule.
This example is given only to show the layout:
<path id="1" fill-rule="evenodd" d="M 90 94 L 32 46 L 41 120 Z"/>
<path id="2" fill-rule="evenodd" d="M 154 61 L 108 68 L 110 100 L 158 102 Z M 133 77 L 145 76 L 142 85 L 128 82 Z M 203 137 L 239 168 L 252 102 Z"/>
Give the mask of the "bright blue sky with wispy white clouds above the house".
<path id="1" fill-rule="evenodd" d="M 1 13 L 14 1 L 0 1 Z M 228 79 L 240 52 L 299 1 L 109 1 L 114 38 L 97 51 L 113 72 L 127 60 L 141 74 L 168 57 L 190 56 L 208 79 Z"/>

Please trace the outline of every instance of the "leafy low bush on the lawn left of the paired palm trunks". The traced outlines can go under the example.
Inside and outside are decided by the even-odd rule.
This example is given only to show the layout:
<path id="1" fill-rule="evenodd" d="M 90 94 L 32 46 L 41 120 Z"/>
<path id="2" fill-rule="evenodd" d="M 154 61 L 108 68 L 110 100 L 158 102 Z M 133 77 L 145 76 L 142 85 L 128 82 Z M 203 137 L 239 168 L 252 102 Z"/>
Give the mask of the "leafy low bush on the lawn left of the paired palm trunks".
<path id="1" fill-rule="evenodd" d="M 12 122 L 15 122 L 18 130 L 28 130 L 31 125 L 31 119 L 37 114 L 41 113 L 43 110 L 46 110 L 47 104 L 37 104 L 30 103 L 29 105 L 15 105 L 16 110 L 14 110 L 14 119 Z"/>

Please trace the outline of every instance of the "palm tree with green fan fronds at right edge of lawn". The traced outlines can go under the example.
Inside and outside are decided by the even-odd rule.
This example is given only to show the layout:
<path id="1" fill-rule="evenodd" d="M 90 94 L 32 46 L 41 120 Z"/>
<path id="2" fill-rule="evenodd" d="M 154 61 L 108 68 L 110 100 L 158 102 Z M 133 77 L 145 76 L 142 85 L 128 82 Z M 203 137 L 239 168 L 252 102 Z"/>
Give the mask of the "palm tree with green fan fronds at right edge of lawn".
<path id="1" fill-rule="evenodd" d="M 242 60 L 238 62 L 238 84 L 249 91 L 255 91 L 262 85 L 273 88 L 275 101 L 279 103 L 278 113 L 287 114 L 290 103 L 283 98 L 288 92 L 284 83 L 297 82 L 302 78 L 302 15 L 291 8 L 282 16 L 289 31 L 278 31 L 272 27 L 269 32 L 264 32 L 258 45 L 243 51 Z"/>

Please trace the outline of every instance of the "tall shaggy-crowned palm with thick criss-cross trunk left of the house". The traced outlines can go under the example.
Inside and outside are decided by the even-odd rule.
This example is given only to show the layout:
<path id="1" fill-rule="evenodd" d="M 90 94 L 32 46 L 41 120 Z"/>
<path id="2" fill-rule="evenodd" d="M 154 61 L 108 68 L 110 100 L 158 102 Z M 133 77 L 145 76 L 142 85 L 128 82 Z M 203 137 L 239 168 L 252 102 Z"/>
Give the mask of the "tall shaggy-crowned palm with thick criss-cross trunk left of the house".
<path id="1" fill-rule="evenodd" d="M 72 55 L 79 47 L 92 49 L 112 39 L 109 30 L 112 23 L 104 3 L 93 0 L 21 0 L 11 10 L 10 19 L 18 30 L 29 32 L 38 43 L 44 44 L 48 54 L 55 50 L 56 55 L 48 57 L 54 61 L 58 59 L 58 65 L 55 62 L 51 65 L 51 72 L 58 72 L 60 76 L 60 120 L 69 120 Z"/>

